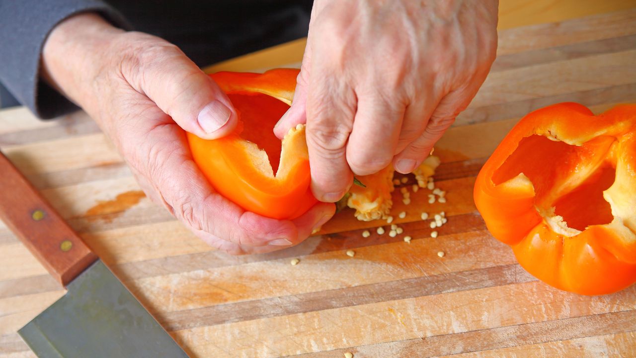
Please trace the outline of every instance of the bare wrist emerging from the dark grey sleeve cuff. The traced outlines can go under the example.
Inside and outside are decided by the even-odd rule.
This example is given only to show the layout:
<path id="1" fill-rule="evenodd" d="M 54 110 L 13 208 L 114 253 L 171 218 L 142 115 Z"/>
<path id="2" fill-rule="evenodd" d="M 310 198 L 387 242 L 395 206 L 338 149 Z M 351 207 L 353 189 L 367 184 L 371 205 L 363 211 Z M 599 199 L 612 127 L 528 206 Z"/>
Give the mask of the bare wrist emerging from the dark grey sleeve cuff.
<path id="1" fill-rule="evenodd" d="M 45 41 L 40 76 L 85 110 L 90 85 L 103 66 L 109 45 L 123 30 L 95 13 L 83 13 L 60 22 Z"/>

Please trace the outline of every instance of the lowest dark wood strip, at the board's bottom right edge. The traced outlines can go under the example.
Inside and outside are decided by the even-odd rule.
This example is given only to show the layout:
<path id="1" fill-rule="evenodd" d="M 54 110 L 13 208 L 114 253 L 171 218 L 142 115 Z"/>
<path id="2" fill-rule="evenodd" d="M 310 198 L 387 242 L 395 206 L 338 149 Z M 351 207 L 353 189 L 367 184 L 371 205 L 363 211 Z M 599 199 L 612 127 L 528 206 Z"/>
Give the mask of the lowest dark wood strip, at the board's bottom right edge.
<path id="1" fill-rule="evenodd" d="M 344 352 L 352 352 L 355 357 L 424 358 L 633 331 L 636 331 L 636 311 L 632 310 L 443 334 L 422 339 L 392 341 L 287 357 L 331 358 L 342 357 Z M 623 354 L 625 354 L 624 357 L 636 356 L 636 345 L 632 347 L 630 352 L 623 352 Z"/>

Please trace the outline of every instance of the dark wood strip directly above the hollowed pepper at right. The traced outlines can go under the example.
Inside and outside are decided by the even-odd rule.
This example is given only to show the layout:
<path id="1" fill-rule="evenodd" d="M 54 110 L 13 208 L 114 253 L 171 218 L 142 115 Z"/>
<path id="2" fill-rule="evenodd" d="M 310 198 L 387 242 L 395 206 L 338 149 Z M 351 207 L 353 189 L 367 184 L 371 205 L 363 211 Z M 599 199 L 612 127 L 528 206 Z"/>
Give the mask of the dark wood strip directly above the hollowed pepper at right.
<path id="1" fill-rule="evenodd" d="M 605 103 L 626 103 L 635 99 L 636 83 L 630 83 L 483 107 L 468 106 L 457 116 L 453 126 L 520 118 L 531 111 L 560 102 L 577 102 L 589 107 Z"/>

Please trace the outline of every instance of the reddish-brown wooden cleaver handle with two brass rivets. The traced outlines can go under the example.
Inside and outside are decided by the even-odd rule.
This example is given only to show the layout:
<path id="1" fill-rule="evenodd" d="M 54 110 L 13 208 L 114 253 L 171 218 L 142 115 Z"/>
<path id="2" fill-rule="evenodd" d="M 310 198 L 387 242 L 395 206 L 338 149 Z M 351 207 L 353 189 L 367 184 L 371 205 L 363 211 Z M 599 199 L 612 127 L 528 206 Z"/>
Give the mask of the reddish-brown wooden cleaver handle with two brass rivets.
<path id="1" fill-rule="evenodd" d="M 0 218 L 64 287 L 97 260 L 97 255 L 2 153 Z"/>

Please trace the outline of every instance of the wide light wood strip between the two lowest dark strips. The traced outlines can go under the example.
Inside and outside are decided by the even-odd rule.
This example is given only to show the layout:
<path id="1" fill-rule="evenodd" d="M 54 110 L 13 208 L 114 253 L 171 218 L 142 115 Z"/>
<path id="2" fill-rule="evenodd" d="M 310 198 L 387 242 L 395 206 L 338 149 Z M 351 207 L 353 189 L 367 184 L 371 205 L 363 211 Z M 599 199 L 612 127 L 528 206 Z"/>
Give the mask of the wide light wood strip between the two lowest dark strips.
<path id="1" fill-rule="evenodd" d="M 632 287 L 611 296 L 585 297 L 533 281 L 197 327 L 174 334 L 204 357 L 317 355 L 391 341 L 634 310 L 634 294 L 636 288 Z"/>

